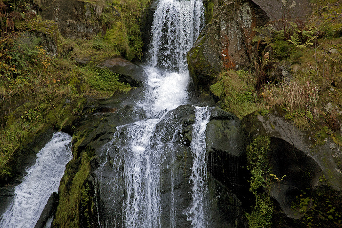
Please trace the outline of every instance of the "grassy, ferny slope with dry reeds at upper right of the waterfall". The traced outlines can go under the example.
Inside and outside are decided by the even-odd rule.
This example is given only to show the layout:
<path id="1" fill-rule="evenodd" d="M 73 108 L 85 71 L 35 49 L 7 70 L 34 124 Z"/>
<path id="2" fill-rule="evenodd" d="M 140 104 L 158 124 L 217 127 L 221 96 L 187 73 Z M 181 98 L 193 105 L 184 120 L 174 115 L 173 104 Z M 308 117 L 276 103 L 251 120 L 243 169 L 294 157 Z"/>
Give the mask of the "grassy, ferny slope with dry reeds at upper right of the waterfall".
<path id="1" fill-rule="evenodd" d="M 339 0 L 312 4 L 314 12 L 307 21 L 283 18 L 255 28 L 258 56 L 250 71 L 224 72 L 210 87 L 223 109 L 242 118 L 257 109 L 278 106 L 300 128 L 320 131 L 319 126 L 327 126 L 328 134 L 338 138 L 342 123 L 342 4 Z M 277 73 L 279 66 L 285 66 L 291 76 Z"/>

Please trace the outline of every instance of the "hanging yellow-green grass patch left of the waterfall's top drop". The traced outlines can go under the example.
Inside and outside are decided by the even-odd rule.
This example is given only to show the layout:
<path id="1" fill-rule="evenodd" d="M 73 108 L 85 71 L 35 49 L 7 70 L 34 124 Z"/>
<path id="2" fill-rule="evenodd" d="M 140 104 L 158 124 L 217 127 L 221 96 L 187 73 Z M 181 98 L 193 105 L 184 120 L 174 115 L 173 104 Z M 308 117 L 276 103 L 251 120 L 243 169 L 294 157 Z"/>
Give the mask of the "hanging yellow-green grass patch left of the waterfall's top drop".
<path id="1" fill-rule="evenodd" d="M 89 58 L 100 62 L 106 58 L 123 56 L 140 60 L 143 41 L 140 17 L 150 0 L 89 1 L 93 20 L 102 24 L 102 32 L 91 39 L 60 39 L 61 55 L 67 58 Z"/>

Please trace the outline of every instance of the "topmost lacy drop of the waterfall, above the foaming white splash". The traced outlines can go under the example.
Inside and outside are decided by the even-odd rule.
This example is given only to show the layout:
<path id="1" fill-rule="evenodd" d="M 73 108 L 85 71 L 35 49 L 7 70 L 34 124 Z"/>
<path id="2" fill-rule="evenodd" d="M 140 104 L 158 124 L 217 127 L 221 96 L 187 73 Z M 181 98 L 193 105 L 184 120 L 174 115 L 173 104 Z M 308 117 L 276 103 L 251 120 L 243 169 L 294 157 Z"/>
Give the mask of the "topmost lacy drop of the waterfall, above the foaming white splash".
<path id="1" fill-rule="evenodd" d="M 202 0 L 160 0 L 154 13 L 149 64 L 187 73 L 186 55 L 203 23 Z"/>

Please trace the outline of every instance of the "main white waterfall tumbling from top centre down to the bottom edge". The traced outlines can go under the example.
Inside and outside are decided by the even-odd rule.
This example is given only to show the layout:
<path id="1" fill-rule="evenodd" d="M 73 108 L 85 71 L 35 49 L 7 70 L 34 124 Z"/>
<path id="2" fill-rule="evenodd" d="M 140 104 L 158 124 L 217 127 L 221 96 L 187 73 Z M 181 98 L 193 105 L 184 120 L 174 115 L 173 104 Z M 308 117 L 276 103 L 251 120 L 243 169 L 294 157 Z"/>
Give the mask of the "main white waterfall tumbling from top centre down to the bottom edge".
<path id="1" fill-rule="evenodd" d="M 137 103 L 137 107 L 144 110 L 147 118 L 132 124 L 118 126 L 113 141 L 103 148 L 107 157 L 109 154 L 115 154 L 113 159 L 114 175 L 121 172 L 118 167 L 123 164 L 125 192 L 119 195 L 119 197 L 125 198 L 122 205 L 122 227 L 158 228 L 162 226 L 160 172 L 166 153 L 171 153 L 173 150 L 172 141 L 175 136 L 171 137 L 169 142 L 164 142 L 163 131 L 165 132 L 165 129 L 159 129 L 160 133 L 156 133 L 156 126 L 161 123 L 169 111 L 188 102 L 187 88 L 190 77 L 186 53 L 198 37 L 202 23 L 202 0 L 159 0 L 152 26 L 150 61 L 145 66 L 145 96 Z M 204 130 L 201 129 L 197 134 L 204 134 Z M 177 134 L 177 129 L 174 134 Z M 171 157 L 174 160 L 174 155 Z M 107 163 L 106 159 L 101 168 L 105 168 Z M 199 164 L 200 161 L 196 163 Z M 195 169 L 193 168 L 193 170 Z M 117 175 L 113 178 L 113 182 L 119 179 L 120 177 Z M 173 179 L 172 172 L 171 179 Z M 102 183 L 98 184 L 100 191 L 106 191 L 105 188 L 109 189 L 105 187 L 108 181 L 98 180 L 99 182 Z M 193 182 L 196 185 L 200 184 L 200 181 L 193 180 Z M 173 188 L 174 183 L 172 182 L 171 228 L 175 227 L 177 213 L 174 206 Z M 196 187 L 193 190 L 196 191 L 200 188 Z M 116 188 L 112 191 L 120 192 L 120 189 Z M 203 193 L 201 194 L 203 195 Z M 110 199 L 110 196 L 107 198 Z M 198 210 L 196 206 L 192 207 L 194 209 L 192 209 L 190 219 L 194 220 Z M 185 212 L 180 211 L 180 213 Z M 118 219 L 110 216 L 105 219 L 101 218 L 99 226 L 101 228 L 120 226 L 117 223 Z M 194 222 L 193 224 L 196 226 Z M 199 224 L 204 224 L 203 219 Z"/>

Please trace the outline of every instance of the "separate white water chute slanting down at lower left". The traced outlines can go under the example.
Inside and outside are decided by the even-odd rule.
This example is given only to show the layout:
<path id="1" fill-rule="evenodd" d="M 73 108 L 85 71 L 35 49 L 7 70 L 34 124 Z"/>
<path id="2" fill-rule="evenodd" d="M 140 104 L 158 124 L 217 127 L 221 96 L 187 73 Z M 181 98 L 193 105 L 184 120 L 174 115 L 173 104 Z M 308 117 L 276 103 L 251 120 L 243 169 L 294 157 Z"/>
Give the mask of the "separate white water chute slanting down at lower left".
<path id="1" fill-rule="evenodd" d="M 51 193 L 57 192 L 71 160 L 71 136 L 57 132 L 37 154 L 36 163 L 15 187 L 14 201 L 1 217 L 1 228 L 33 228 Z"/>

